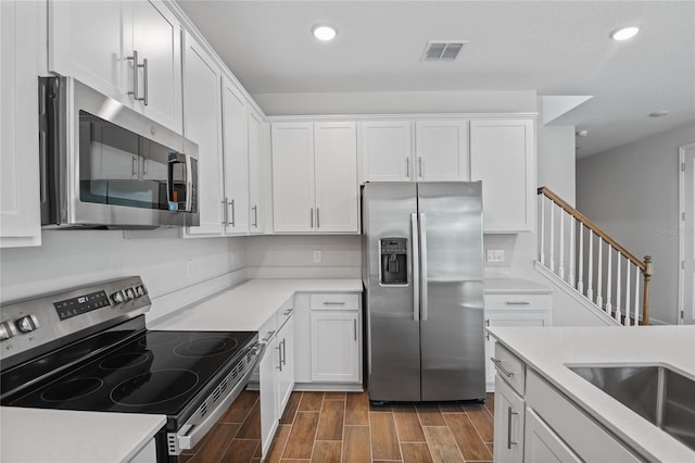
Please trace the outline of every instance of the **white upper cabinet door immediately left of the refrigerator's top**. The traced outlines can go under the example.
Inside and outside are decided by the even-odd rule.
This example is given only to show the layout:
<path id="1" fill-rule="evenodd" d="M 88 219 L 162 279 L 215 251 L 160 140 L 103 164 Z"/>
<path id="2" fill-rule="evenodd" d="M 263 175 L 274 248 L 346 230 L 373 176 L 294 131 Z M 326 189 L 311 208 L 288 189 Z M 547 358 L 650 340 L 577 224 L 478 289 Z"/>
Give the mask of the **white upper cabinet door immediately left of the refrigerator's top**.
<path id="1" fill-rule="evenodd" d="M 314 124 L 317 232 L 358 232 L 355 123 Z"/>

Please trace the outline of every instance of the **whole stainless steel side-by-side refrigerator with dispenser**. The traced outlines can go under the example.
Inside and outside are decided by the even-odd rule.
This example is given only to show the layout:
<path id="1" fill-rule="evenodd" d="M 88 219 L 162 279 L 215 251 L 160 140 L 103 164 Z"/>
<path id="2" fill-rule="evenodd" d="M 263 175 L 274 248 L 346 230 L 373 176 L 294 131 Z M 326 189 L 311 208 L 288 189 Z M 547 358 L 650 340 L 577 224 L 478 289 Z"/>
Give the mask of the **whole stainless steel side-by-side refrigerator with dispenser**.
<path id="1" fill-rule="evenodd" d="M 369 399 L 484 400 L 482 184 L 367 183 Z"/>

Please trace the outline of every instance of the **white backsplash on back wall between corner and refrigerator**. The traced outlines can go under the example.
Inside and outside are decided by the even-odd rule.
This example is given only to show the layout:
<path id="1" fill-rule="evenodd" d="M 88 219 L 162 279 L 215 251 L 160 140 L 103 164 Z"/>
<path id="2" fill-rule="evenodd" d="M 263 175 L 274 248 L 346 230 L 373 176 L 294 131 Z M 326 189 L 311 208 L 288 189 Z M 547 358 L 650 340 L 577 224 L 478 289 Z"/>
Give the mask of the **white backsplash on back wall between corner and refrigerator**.
<path id="1" fill-rule="evenodd" d="M 362 278 L 362 236 L 249 237 L 245 259 L 249 278 Z"/>

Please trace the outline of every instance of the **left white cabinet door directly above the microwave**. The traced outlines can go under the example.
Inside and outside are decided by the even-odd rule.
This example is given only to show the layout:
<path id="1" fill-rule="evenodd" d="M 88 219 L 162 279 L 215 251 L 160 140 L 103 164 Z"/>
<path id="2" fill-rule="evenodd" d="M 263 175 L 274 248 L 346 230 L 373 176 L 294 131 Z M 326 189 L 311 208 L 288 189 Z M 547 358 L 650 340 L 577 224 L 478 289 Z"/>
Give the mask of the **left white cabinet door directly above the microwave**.
<path id="1" fill-rule="evenodd" d="M 115 98 L 127 97 L 124 27 L 131 17 L 121 1 L 50 1 L 49 71 L 72 76 Z M 129 40 L 129 39 L 128 39 Z M 131 68 L 131 67 L 130 67 Z"/>

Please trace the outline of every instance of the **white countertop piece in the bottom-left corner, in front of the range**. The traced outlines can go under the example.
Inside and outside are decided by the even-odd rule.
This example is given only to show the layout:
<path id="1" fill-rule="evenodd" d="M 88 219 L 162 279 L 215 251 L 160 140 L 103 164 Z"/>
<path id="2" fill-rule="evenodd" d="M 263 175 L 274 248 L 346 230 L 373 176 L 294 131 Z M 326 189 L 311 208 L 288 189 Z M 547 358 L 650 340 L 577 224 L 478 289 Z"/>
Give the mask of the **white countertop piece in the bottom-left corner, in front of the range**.
<path id="1" fill-rule="evenodd" d="M 125 462 L 165 423 L 164 415 L 2 406 L 0 461 Z"/>

